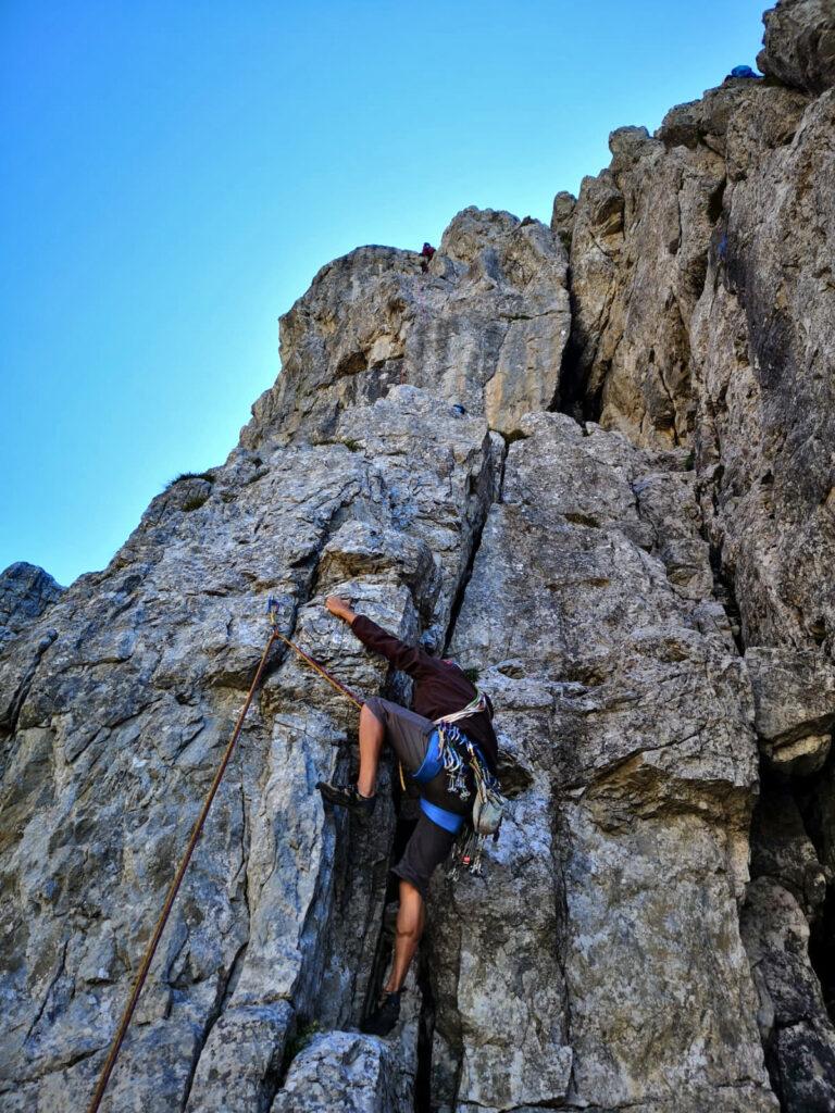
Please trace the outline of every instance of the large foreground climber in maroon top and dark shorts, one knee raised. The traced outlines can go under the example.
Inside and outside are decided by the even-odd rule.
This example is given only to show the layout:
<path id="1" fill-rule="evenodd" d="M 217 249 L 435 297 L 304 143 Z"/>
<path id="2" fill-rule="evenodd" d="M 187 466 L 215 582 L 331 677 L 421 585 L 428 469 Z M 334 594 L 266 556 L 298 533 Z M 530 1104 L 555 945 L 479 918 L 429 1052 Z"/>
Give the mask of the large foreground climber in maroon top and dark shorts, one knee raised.
<path id="1" fill-rule="evenodd" d="M 400 1015 L 400 995 L 424 926 L 424 902 L 429 880 L 449 855 L 458 833 L 472 810 L 472 772 L 459 770 L 458 794 L 450 790 L 448 771 L 438 757 L 435 723 L 454 720 L 455 727 L 475 743 L 491 774 L 495 774 L 499 743 L 493 731 L 493 707 L 463 670 L 451 659 L 432 657 L 420 647 L 387 633 L 364 614 L 356 614 L 345 600 L 328 595 L 325 605 L 348 623 L 354 634 L 409 673 L 414 680 L 414 710 L 373 696 L 360 712 L 360 775 L 357 782 L 341 787 L 321 781 L 316 787 L 332 805 L 367 818 L 376 804 L 376 777 L 383 742 L 387 741 L 401 766 L 420 790 L 421 815 L 393 873 L 400 878 L 394 959 L 377 1008 L 362 1025 L 363 1032 L 387 1035 Z M 464 713 L 462 713 L 464 712 Z M 466 781 L 464 785 L 463 781 Z"/>

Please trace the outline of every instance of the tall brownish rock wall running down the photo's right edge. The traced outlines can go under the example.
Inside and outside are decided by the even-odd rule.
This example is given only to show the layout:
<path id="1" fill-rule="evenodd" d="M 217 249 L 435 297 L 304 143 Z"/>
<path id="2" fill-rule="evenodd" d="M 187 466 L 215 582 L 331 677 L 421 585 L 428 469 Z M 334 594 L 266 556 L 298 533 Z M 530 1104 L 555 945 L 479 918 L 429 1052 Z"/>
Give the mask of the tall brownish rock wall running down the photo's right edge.
<path id="1" fill-rule="evenodd" d="M 611 166 L 576 205 L 560 199 L 553 227 L 570 238 L 574 412 L 638 444 L 694 451 L 767 786 L 745 938 L 772 1080 L 784 1109 L 799 1111 L 835 1105 L 823 818 L 835 710 L 835 8 L 783 0 L 765 21 L 765 81 L 726 80 L 672 109 L 654 138 L 616 132 Z M 659 382 L 674 384 L 666 404 Z M 797 830 L 786 841 L 788 814 Z M 793 848 L 790 868 L 775 866 L 775 844 Z M 797 881 L 808 854 L 814 896 Z"/>

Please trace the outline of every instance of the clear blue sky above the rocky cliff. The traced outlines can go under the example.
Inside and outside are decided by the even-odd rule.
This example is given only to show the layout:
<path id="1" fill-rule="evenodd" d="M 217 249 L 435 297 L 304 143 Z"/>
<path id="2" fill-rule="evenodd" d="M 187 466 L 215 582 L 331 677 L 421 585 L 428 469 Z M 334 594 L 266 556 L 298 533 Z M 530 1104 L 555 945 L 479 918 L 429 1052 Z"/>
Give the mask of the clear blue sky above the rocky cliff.
<path id="1" fill-rule="evenodd" d="M 235 445 L 320 266 L 548 220 L 765 6 L 0 0 L 0 569 L 104 568 Z"/>

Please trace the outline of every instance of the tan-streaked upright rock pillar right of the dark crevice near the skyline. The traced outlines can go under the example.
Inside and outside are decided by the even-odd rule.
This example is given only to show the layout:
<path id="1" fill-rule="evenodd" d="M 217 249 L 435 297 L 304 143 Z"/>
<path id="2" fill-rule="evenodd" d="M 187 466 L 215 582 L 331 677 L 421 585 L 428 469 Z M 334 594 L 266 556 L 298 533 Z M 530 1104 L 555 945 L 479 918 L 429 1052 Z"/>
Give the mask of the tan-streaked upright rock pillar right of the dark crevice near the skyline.
<path id="1" fill-rule="evenodd" d="M 584 178 L 573 214 L 569 378 L 589 415 L 639 444 L 692 430 L 687 329 L 705 279 L 723 159 L 708 145 L 667 150 L 646 128 L 609 138 L 611 166 Z"/>

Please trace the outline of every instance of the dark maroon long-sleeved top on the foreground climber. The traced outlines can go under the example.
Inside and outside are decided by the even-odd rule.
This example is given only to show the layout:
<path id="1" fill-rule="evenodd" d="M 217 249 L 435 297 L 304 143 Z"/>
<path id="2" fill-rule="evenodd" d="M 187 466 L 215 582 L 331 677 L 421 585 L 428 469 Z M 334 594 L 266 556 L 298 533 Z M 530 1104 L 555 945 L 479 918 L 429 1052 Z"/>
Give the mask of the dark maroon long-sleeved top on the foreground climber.
<path id="1" fill-rule="evenodd" d="M 466 679 L 462 669 L 432 657 L 419 646 L 407 646 L 400 638 L 383 630 L 365 614 L 357 614 L 351 629 L 360 641 L 381 653 L 386 660 L 414 680 L 413 708 L 428 719 L 440 719 L 442 715 L 460 711 L 475 698 L 475 687 Z M 490 698 L 488 697 L 488 705 Z M 455 723 L 474 742 L 478 742 L 491 770 L 495 772 L 499 758 L 499 742 L 487 711 L 477 711 L 459 719 Z"/>

